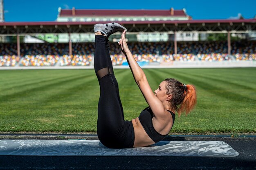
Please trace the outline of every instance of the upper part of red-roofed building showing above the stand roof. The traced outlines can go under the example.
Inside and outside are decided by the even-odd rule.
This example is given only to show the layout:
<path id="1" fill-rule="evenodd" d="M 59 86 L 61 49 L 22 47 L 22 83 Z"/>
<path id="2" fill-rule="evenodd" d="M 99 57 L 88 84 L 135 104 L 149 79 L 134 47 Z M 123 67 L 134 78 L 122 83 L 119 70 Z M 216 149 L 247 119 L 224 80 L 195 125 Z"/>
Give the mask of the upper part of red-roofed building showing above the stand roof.
<path id="1" fill-rule="evenodd" d="M 191 20 L 186 9 L 174 10 L 99 10 L 99 9 L 58 9 L 58 22 L 121 22 L 121 21 L 173 21 Z"/>

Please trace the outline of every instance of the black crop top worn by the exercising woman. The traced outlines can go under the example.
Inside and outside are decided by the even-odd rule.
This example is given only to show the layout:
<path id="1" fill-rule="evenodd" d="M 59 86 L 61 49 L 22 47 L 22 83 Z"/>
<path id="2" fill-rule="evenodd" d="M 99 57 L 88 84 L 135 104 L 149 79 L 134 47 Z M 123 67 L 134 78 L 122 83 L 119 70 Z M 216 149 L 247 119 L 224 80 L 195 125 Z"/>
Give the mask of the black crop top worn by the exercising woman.
<path id="1" fill-rule="evenodd" d="M 168 110 L 169 111 L 169 110 Z M 171 111 L 169 111 L 173 117 L 173 123 L 175 120 L 175 114 Z M 153 122 L 152 122 L 152 118 L 154 117 L 154 114 L 151 110 L 150 107 L 146 107 L 143 111 L 141 111 L 141 113 L 139 114 L 139 121 L 141 122 L 143 128 L 145 129 L 146 133 L 148 134 L 148 136 L 155 142 L 159 142 L 162 139 L 164 139 L 168 133 L 166 135 L 161 135 L 160 133 L 158 133 L 154 126 L 153 126 Z M 170 130 L 171 131 L 171 130 Z"/>

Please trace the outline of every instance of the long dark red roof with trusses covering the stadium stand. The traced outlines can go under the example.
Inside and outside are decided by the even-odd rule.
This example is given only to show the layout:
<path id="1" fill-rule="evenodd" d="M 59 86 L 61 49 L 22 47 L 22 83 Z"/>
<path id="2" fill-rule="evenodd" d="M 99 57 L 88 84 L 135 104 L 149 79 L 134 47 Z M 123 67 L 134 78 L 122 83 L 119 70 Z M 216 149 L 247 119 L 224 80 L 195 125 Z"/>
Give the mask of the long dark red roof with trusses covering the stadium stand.
<path id="1" fill-rule="evenodd" d="M 38 33 L 93 33 L 93 25 L 108 22 L 2 22 L 0 35 Z M 241 20 L 174 20 L 120 21 L 128 32 L 215 32 L 245 33 L 256 31 L 256 19 Z"/>

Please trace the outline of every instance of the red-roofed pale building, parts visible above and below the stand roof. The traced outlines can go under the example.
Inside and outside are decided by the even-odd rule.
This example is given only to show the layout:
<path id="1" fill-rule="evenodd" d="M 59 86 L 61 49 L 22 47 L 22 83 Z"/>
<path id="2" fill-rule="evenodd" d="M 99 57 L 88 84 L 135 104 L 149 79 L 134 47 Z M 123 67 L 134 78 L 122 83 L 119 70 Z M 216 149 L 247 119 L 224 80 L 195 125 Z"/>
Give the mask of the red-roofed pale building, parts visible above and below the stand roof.
<path id="1" fill-rule="evenodd" d="M 186 9 L 175 10 L 99 10 L 99 9 L 58 9 L 57 22 L 150 22 L 150 21 L 187 21 L 192 17 L 187 15 Z M 83 40 L 87 38 L 87 40 Z M 112 38 L 112 39 L 111 39 Z M 112 36 L 110 41 L 118 41 L 118 36 Z M 126 36 L 128 41 L 168 41 L 174 37 L 169 37 L 168 33 L 152 32 L 134 32 Z M 61 35 L 60 41 L 67 42 L 68 35 Z M 94 41 L 94 35 L 76 34 L 71 37 L 73 42 Z M 198 33 L 177 33 L 177 41 L 198 41 Z"/>

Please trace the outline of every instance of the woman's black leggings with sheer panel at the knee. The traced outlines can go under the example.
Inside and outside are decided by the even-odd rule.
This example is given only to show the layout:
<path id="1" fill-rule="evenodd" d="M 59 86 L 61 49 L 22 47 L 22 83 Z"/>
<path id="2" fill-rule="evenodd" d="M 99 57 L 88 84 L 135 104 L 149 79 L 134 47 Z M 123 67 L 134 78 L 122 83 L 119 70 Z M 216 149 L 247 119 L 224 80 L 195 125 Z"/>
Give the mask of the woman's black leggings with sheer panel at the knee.
<path id="1" fill-rule="evenodd" d="M 100 86 L 97 134 L 108 148 L 131 148 L 134 144 L 132 122 L 124 120 L 117 79 L 113 71 L 106 36 L 95 35 L 94 70 Z"/>

